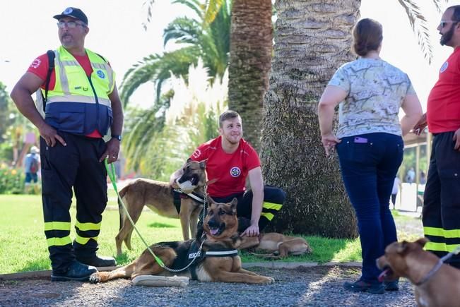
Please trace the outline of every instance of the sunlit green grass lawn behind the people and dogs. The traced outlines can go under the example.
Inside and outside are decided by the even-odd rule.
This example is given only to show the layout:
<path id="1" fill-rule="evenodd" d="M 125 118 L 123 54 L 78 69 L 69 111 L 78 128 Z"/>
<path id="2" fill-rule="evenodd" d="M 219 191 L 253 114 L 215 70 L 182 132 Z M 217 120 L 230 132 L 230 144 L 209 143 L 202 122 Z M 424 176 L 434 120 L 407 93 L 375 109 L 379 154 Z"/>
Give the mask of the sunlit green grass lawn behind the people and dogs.
<path id="1" fill-rule="evenodd" d="M 109 190 L 109 203 L 102 219 L 99 236 L 100 255 L 116 255 L 115 236 L 119 229 L 119 213 L 116 196 Z M 43 216 L 40 195 L 0 195 L 0 274 L 49 270 L 47 244 L 43 232 Z M 75 207 L 71 207 L 72 222 L 75 222 Z M 177 241 L 182 239 L 179 219 L 160 217 L 150 210 L 144 211 L 136 223 L 148 243 Z M 71 238 L 74 238 L 73 229 Z M 290 257 L 283 261 L 360 261 L 359 239 L 326 239 L 318 236 L 304 236 L 313 248 L 311 255 Z M 133 251 L 123 246 L 124 255 L 117 258 L 123 265 L 136 258 L 145 249 L 141 239 L 134 232 L 131 243 Z M 252 255 L 242 253 L 243 262 L 261 261 Z"/>

